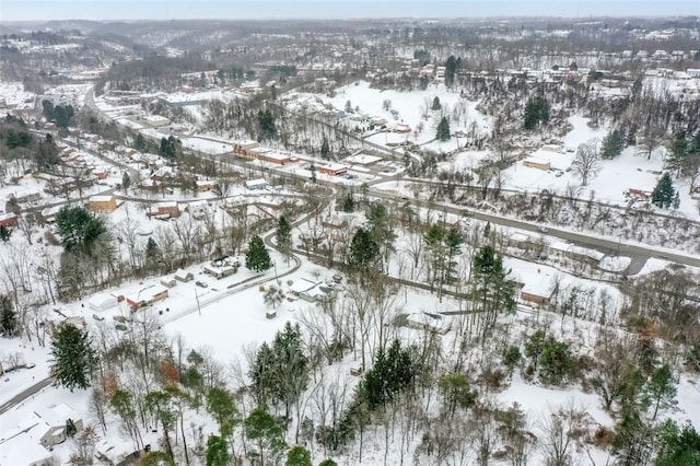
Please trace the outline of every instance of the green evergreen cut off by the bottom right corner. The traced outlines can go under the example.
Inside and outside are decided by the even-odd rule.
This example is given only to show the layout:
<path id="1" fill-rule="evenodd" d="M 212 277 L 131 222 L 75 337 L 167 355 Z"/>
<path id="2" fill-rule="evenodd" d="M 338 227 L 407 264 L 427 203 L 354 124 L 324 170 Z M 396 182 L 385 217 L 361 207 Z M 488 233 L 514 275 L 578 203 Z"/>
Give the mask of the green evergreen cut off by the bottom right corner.
<path id="1" fill-rule="evenodd" d="M 700 465 L 700 435 L 691 423 L 678 429 L 667 419 L 660 429 L 654 466 Z"/>

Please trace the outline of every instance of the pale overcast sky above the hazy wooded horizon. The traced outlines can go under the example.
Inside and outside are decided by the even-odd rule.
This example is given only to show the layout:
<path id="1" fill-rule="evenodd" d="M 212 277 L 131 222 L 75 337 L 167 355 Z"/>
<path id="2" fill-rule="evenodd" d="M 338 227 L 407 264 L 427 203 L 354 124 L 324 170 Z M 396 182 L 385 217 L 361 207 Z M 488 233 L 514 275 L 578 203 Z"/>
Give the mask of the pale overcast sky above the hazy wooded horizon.
<path id="1" fill-rule="evenodd" d="M 700 0 L 0 0 L 0 21 L 700 15 Z"/>

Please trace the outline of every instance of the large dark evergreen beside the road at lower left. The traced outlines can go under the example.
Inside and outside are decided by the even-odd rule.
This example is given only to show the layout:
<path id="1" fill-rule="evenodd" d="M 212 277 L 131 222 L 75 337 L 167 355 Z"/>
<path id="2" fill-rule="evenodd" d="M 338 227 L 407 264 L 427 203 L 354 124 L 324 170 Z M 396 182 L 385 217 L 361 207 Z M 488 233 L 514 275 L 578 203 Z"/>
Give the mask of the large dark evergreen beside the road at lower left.
<path id="1" fill-rule="evenodd" d="M 97 362 L 88 333 L 71 324 L 62 324 L 51 341 L 54 364 L 51 372 L 56 385 L 71 392 L 73 388 L 88 388 L 90 374 Z"/>

